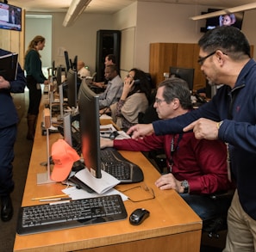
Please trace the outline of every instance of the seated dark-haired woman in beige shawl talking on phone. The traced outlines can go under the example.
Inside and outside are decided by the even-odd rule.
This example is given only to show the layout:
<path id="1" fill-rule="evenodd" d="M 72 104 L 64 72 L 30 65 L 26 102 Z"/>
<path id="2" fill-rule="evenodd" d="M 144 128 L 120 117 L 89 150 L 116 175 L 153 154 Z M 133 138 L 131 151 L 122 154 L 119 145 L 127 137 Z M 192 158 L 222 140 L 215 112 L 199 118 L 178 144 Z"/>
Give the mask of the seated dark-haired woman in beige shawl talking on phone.
<path id="1" fill-rule="evenodd" d="M 139 113 L 145 113 L 151 87 L 144 71 L 133 68 L 125 77 L 122 95 L 118 102 L 110 106 L 111 116 L 116 125 L 126 131 L 138 123 Z"/>

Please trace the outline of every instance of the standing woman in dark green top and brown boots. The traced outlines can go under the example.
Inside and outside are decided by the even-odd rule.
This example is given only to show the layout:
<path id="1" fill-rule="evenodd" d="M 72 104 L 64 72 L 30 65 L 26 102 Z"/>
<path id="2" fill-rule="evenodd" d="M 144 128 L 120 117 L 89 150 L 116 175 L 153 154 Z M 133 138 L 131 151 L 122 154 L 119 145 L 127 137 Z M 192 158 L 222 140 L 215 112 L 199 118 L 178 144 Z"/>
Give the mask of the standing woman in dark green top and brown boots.
<path id="1" fill-rule="evenodd" d="M 27 87 L 29 89 L 28 105 L 28 134 L 27 139 L 34 139 L 34 130 L 39 106 L 41 102 L 41 83 L 47 85 L 49 82 L 41 70 L 41 55 L 39 51 L 45 47 L 44 37 L 37 35 L 29 43 L 25 54 L 25 67 L 27 73 Z"/>

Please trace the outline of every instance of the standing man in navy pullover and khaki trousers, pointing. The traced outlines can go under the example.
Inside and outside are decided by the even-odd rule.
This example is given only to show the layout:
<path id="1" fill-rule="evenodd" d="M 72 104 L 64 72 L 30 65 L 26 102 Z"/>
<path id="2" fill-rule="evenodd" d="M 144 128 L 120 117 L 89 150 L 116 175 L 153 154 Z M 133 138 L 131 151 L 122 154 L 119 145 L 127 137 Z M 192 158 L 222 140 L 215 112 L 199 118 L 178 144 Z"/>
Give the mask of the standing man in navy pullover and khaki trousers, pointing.
<path id="1" fill-rule="evenodd" d="M 211 101 L 172 120 L 130 128 L 133 138 L 188 132 L 196 138 L 228 143 L 230 169 L 237 190 L 228 210 L 225 252 L 256 247 L 256 62 L 244 34 L 234 27 L 210 30 L 198 42 L 198 63 L 210 84 L 221 85 Z"/>

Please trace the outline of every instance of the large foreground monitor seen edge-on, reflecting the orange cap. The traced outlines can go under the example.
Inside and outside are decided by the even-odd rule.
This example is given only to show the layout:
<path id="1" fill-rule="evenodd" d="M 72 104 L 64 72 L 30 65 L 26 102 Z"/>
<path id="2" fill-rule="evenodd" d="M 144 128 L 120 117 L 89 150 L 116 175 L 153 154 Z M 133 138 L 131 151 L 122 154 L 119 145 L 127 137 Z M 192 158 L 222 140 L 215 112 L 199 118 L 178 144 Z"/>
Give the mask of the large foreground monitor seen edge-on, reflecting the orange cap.
<path id="1" fill-rule="evenodd" d="M 79 90 L 78 110 L 84 164 L 91 175 L 101 178 L 99 96 L 88 87 L 85 79 Z"/>

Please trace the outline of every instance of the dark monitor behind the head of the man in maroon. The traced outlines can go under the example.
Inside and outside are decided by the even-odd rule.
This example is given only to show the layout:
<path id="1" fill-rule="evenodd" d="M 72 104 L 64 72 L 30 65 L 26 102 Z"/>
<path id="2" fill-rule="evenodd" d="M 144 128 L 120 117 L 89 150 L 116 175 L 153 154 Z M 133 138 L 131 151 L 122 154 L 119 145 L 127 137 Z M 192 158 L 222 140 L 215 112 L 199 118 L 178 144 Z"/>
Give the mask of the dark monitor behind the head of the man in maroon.
<path id="1" fill-rule="evenodd" d="M 186 81 L 189 85 L 189 89 L 193 90 L 194 83 L 194 68 L 182 68 L 170 66 L 170 77 L 174 75 L 175 77 L 181 78 Z"/>

